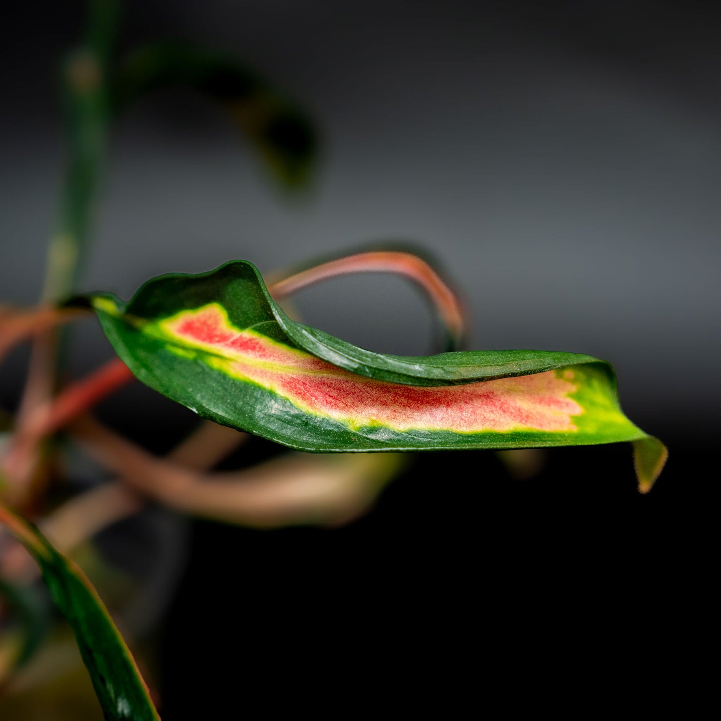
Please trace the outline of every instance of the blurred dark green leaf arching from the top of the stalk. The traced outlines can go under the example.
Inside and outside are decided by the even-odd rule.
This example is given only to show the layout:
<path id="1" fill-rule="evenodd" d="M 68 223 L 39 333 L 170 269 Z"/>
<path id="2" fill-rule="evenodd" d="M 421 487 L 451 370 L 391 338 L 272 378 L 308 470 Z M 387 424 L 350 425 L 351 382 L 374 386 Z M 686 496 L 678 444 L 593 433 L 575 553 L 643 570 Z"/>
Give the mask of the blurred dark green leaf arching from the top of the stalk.
<path id="1" fill-rule="evenodd" d="M 156 43 L 134 51 L 115 79 L 115 108 L 151 90 L 186 85 L 220 102 L 281 182 L 308 178 L 317 138 L 306 114 L 233 56 L 186 43 Z"/>

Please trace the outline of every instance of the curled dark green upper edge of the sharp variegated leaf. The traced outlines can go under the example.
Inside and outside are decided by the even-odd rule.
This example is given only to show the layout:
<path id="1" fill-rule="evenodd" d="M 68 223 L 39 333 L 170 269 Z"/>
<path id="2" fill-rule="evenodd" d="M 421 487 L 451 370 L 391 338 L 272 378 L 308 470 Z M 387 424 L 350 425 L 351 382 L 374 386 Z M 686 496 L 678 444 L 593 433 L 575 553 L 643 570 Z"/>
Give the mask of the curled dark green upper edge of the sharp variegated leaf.
<path id="1" fill-rule="evenodd" d="M 218 306 L 216 322 L 227 322 L 236 331 L 252 329 L 263 337 L 302 348 L 352 373 L 410 386 L 474 383 L 541 373 L 579 363 L 602 362 L 590 355 L 546 350 L 472 350 L 424 356 L 373 353 L 317 328 L 292 321 L 270 297 L 257 268 L 244 260 L 231 260 L 216 270 L 198 275 L 161 275 L 143 285 L 128 304 L 110 295 L 96 296 L 93 301 L 101 322 L 108 316 L 124 316 L 125 324 L 142 326 L 145 335 L 155 334 L 156 337 L 173 337 L 174 331 L 168 332 L 164 325 L 158 325 L 154 330 L 148 321 L 162 323 L 175 314 L 198 311 L 211 304 Z M 213 309 L 206 310 L 205 315 L 210 318 Z M 201 320 L 205 322 L 205 316 Z M 104 327 L 107 332 L 107 326 Z M 181 344 L 185 342 L 180 340 Z M 191 341 L 191 345 L 193 343 L 195 341 Z M 208 350 L 215 353 L 215 349 Z"/>

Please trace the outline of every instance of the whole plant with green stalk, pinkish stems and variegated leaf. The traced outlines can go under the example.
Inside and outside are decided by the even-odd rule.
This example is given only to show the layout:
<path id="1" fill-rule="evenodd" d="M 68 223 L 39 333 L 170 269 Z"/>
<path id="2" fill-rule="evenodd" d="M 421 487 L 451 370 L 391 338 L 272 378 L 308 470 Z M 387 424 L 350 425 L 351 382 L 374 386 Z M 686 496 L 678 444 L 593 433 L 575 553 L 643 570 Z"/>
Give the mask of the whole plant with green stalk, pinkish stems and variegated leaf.
<path id="1" fill-rule="evenodd" d="M 89 7 L 86 38 L 63 74 L 70 162 L 50 243 L 46 302 L 0 311 L 0 359 L 17 342 L 35 340 L 27 389 L 1 459 L 0 525 L 40 568 L 73 629 L 106 718 L 158 715 L 128 646 L 68 554 L 137 513 L 147 499 L 251 526 L 342 523 L 368 508 L 402 468 L 401 451 L 616 442 L 632 443 L 639 490 L 650 490 L 666 449 L 622 412 L 609 363 L 545 350 L 456 350 L 464 333 L 461 305 L 433 264 L 413 253 L 358 252 L 267 284 L 251 262 L 231 260 L 208 273 L 153 278 L 127 302 L 110 293 L 76 294 L 112 120 L 143 94 L 180 83 L 213 97 L 288 187 L 306 178 L 315 147 L 312 126 L 295 103 L 234 58 L 159 43 L 116 63 L 118 7 L 112 0 L 91 0 Z M 291 319 L 280 305 L 311 283 L 356 272 L 399 273 L 420 286 L 441 319 L 446 352 L 374 353 Z M 90 312 L 118 358 L 63 386 L 58 327 Z M 133 377 L 206 419 L 166 459 L 90 413 Z M 60 431 L 117 479 L 48 512 L 43 497 L 53 490 L 58 448 L 48 441 Z M 242 472 L 211 472 L 245 433 L 305 453 Z M 20 568 L 25 576 L 18 578 L 29 578 L 25 562 L 12 549 L 2 551 L 0 572 Z M 6 581 L 0 592 L 4 588 L 11 596 Z M 39 645 L 32 614 L 27 619 L 16 665 Z M 2 658 L 0 690 L 9 673 Z"/>

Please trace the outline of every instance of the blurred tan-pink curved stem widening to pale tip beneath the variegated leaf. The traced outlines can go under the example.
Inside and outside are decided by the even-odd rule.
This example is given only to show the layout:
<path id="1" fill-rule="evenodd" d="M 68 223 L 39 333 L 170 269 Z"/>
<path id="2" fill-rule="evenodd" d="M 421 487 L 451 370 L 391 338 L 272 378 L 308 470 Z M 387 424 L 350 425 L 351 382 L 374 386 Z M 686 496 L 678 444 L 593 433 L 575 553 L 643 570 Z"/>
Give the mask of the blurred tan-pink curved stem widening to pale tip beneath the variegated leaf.
<path id="1" fill-rule="evenodd" d="M 89 416 L 69 430 L 143 495 L 182 513 L 250 526 L 349 521 L 404 463 L 402 454 L 292 454 L 239 472 L 203 474 L 151 456 Z"/>

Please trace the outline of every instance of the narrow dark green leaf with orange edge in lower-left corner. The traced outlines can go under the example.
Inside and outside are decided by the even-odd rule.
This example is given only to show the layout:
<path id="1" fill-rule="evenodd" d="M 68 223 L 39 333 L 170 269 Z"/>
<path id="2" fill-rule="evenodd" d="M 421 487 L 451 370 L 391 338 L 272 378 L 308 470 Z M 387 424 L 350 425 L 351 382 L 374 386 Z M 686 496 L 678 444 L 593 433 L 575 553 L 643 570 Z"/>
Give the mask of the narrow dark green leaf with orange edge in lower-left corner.
<path id="1" fill-rule="evenodd" d="M 130 650 L 79 567 L 59 554 L 35 526 L 2 506 L 0 524 L 9 529 L 40 566 L 53 601 L 75 633 L 105 718 L 158 721 Z"/>

